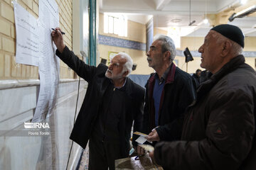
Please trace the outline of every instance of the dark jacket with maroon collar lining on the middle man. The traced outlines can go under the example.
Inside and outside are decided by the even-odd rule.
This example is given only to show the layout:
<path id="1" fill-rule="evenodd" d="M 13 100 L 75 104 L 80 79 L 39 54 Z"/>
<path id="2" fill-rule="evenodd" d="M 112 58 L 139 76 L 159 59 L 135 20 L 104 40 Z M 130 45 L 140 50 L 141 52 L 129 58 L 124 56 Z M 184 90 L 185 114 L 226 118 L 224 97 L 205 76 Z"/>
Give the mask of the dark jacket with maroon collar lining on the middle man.
<path id="1" fill-rule="evenodd" d="M 155 125 L 154 74 L 146 84 L 146 100 L 142 131 L 149 134 Z M 166 77 L 159 106 L 159 128 L 156 131 L 160 140 L 180 140 L 183 126 L 183 113 L 196 99 L 196 83 L 186 72 L 173 63 Z"/>

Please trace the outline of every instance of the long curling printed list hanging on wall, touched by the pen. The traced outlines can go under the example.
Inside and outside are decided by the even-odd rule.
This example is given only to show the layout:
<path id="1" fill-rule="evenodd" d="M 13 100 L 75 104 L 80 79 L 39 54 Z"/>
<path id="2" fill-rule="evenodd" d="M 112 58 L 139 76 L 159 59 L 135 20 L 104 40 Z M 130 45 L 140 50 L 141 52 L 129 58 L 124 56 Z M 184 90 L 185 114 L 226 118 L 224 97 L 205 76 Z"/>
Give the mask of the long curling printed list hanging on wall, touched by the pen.
<path id="1" fill-rule="evenodd" d="M 39 1 L 40 52 L 39 75 L 40 91 L 33 122 L 53 113 L 58 92 L 60 60 L 55 56 L 55 45 L 51 40 L 51 28 L 59 25 L 58 4 L 54 0 Z"/>

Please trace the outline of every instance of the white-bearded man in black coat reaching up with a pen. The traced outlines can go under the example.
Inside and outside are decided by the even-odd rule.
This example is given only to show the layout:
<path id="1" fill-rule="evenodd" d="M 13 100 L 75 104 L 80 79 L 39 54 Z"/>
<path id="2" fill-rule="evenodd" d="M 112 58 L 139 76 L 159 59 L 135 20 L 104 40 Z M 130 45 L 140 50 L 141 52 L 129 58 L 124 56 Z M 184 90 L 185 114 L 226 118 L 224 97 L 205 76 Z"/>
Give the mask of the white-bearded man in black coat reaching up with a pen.
<path id="1" fill-rule="evenodd" d="M 132 58 L 120 52 L 109 67 L 89 66 L 64 45 L 60 31 L 52 32 L 56 55 L 88 82 L 70 139 L 82 148 L 90 140 L 89 169 L 114 169 L 115 159 L 129 156 L 133 121 L 134 131 L 142 128 L 144 89 L 127 77 L 132 72 Z"/>

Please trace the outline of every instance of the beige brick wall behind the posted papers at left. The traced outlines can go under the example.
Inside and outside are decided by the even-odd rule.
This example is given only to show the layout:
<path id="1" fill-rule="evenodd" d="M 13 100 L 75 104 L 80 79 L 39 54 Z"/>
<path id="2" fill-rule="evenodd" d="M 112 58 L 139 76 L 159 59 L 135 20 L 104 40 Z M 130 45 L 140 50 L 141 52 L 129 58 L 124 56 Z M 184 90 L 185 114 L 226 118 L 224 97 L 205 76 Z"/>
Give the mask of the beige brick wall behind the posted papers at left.
<path id="1" fill-rule="evenodd" d="M 60 28 L 66 33 L 65 44 L 72 50 L 72 0 L 56 0 L 59 6 Z M 18 0 L 38 18 L 39 0 Z M 16 64 L 16 30 L 14 22 L 14 5 L 11 0 L 0 0 L 0 79 L 38 79 L 38 67 Z M 60 78 L 73 78 L 72 70 L 60 62 Z"/>

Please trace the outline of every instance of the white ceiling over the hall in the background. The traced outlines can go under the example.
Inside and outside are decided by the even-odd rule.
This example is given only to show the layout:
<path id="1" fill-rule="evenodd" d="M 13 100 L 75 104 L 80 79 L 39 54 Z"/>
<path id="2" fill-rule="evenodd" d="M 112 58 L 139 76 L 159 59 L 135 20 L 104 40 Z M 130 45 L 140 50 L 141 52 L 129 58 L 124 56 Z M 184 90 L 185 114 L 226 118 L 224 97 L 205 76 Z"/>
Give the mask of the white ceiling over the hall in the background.
<path id="1" fill-rule="evenodd" d="M 233 13 L 255 5 L 256 0 L 100 0 L 100 12 L 124 13 L 129 20 L 147 23 L 154 17 L 154 27 L 180 28 L 182 36 L 205 36 L 220 23 L 239 26 L 245 36 L 256 36 L 256 12 L 229 22 Z M 203 23 L 208 18 L 209 23 Z M 192 26 L 189 23 L 195 21 Z"/>

